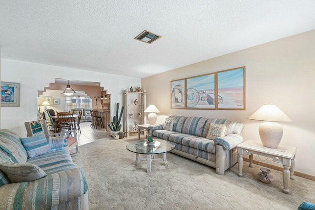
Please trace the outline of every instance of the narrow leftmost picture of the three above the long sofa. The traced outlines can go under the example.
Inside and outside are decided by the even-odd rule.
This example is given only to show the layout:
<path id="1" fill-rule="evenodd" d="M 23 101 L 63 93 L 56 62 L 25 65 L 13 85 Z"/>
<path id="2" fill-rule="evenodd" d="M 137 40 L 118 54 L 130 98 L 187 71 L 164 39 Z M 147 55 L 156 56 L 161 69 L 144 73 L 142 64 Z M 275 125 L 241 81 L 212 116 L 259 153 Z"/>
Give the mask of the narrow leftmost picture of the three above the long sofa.
<path id="1" fill-rule="evenodd" d="M 185 108 L 186 79 L 171 81 L 171 108 Z"/>

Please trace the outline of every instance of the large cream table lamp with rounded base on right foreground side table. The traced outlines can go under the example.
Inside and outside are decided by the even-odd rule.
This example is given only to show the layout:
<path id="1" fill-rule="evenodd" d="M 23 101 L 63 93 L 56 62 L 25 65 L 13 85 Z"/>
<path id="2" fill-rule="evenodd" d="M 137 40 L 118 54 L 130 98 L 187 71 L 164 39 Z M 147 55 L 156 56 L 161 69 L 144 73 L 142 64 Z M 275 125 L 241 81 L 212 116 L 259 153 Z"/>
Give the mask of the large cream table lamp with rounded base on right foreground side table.
<path id="1" fill-rule="evenodd" d="M 277 122 L 293 122 L 276 105 L 262 105 L 248 119 L 266 121 L 259 126 L 259 136 L 262 145 L 277 148 L 284 133 L 282 126 Z"/>

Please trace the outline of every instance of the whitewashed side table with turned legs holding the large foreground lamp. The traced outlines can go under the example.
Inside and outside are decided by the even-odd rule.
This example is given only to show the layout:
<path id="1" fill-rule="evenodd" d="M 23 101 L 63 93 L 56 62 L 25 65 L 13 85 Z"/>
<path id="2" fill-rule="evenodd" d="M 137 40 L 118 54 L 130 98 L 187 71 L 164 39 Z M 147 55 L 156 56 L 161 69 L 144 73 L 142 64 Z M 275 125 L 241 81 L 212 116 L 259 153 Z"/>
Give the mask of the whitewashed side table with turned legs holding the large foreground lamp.
<path id="1" fill-rule="evenodd" d="M 243 155 L 249 155 L 250 167 L 252 167 L 253 154 L 270 157 L 274 162 L 281 163 L 284 167 L 283 182 L 284 193 L 289 193 L 289 180 L 294 179 L 294 167 L 295 167 L 295 153 L 296 147 L 292 146 L 278 146 L 278 148 L 264 147 L 260 141 L 247 140 L 239 145 L 238 149 L 238 175 L 242 176 L 243 171 Z"/>

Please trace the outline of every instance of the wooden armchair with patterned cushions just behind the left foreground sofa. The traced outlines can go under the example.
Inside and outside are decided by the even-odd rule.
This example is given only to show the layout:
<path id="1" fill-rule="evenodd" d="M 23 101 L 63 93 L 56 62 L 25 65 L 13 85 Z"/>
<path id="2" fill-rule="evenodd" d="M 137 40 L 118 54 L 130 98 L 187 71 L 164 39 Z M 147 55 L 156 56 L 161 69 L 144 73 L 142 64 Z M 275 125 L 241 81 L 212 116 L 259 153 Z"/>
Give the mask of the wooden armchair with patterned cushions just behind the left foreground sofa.
<path id="1" fill-rule="evenodd" d="M 79 152 L 78 139 L 75 130 L 50 134 L 47 127 L 47 122 L 44 119 L 32 122 L 25 122 L 24 125 L 27 130 L 28 137 L 37 136 L 39 134 L 43 134 L 47 140 L 64 137 L 68 142 L 68 150 L 70 151 L 74 148 L 76 149 L 76 152 L 70 154 L 73 155 Z"/>

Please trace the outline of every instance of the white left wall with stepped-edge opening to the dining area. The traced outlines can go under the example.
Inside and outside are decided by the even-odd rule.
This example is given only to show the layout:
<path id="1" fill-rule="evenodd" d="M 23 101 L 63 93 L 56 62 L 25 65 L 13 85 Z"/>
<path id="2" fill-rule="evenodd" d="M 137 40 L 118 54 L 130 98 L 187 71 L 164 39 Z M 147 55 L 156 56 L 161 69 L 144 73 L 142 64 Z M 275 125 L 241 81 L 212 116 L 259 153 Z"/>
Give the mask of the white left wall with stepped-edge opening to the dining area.
<path id="1" fill-rule="evenodd" d="M 112 115 L 117 102 L 124 104 L 124 90 L 131 85 L 141 86 L 139 78 L 9 59 L 1 59 L 0 73 L 1 81 L 21 83 L 20 106 L 1 107 L 0 128 L 13 130 L 22 137 L 27 135 L 24 122 L 37 119 L 37 91 L 54 83 L 55 78 L 100 82 L 100 86 L 112 94 Z"/>

